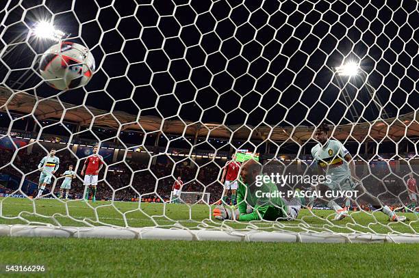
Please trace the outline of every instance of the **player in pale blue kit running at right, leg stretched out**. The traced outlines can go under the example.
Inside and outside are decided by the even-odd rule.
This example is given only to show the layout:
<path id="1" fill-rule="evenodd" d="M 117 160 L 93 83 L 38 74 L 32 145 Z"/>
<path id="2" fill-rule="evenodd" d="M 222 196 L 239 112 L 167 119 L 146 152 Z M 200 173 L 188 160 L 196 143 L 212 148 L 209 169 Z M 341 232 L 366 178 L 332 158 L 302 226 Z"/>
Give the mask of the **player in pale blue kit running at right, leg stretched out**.
<path id="1" fill-rule="evenodd" d="M 388 206 L 381 206 L 380 200 L 366 191 L 357 176 L 355 162 L 351 154 L 340 141 L 329 139 L 328 132 L 329 126 L 320 124 L 314 133 L 314 137 L 319 143 L 312 148 L 313 159 L 318 164 L 318 175 L 329 176 L 331 180 L 329 183 L 317 186 L 321 195 L 325 196 L 325 191 L 328 189 L 331 191 L 358 191 L 357 201 L 366 202 L 376 210 L 381 210 L 390 217 L 390 221 L 405 221 L 406 217 L 397 216 Z M 334 221 L 348 216 L 348 210 L 336 204 L 333 199 L 320 198 L 320 200 L 335 210 Z"/>

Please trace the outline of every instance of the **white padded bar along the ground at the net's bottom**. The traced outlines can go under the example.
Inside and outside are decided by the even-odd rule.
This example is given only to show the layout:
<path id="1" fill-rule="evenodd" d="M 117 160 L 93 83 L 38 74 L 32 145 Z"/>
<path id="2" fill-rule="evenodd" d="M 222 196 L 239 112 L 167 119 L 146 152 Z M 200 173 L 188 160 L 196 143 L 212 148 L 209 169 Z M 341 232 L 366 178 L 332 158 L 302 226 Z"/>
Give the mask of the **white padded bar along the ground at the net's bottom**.
<path id="1" fill-rule="evenodd" d="M 58 238 L 123 238 L 151 240 L 218 240 L 240 242 L 302 242 L 302 243 L 418 243 L 411 234 L 338 234 L 292 232 L 225 232 L 214 230 L 183 230 L 162 228 L 120 227 L 46 227 L 34 225 L 0 225 L 0 236 Z"/>

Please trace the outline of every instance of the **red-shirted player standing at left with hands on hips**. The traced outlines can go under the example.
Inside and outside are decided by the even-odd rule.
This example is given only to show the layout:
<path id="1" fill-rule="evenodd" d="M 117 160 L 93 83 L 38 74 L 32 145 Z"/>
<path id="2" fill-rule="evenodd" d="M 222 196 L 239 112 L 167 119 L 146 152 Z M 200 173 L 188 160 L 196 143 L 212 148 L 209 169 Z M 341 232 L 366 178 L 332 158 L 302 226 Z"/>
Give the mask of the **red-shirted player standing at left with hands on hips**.
<path id="1" fill-rule="evenodd" d="M 86 170 L 86 176 L 84 176 L 84 192 L 86 201 L 89 199 L 89 188 L 92 189 L 92 201 L 96 201 L 97 193 L 97 180 L 99 176 L 99 171 L 103 167 L 103 158 L 98 154 L 99 147 L 95 146 L 93 148 L 93 154 L 86 158 L 84 162 L 83 169 L 81 169 L 81 176 L 84 176 L 84 170 Z M 87 169 L 86 169 L 87 165 Z"/>

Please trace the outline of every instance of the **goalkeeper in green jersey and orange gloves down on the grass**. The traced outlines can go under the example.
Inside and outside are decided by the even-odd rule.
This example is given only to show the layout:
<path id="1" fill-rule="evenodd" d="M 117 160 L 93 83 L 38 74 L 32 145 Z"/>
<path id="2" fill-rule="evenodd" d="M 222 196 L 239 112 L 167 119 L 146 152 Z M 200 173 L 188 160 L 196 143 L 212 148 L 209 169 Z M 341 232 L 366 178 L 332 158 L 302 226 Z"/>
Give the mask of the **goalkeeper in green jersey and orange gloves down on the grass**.
<path id="1" fill-rule="evenodd" d="M 237 190 L 238 209 L 216 206 L 213 214 L 216 219 L 238 221 L 296 219 L 301 209 L 301 199 L 293 198 L 287 201 L 281 197 L 266 197 L 266 193 L 277 193 L 278 188 L 273 182 L 262 182 L 263 179 L 260 181 L 262 186 L 257 184 L 256 177 L 261 174 L 261 170 L 262 166 L 253 159 L 242 163 Z"/>

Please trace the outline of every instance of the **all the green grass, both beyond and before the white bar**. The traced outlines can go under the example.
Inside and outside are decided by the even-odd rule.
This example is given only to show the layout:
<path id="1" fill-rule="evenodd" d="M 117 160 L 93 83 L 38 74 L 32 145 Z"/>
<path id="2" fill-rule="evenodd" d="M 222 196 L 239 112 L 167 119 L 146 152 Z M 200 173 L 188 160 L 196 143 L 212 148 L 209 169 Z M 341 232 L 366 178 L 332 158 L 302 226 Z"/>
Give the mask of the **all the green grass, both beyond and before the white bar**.
<path id="1" fill-rule="evenodd" d="M 171 227 L 176 222 L 194 229 L 201 221 L 217 227 L 205 205 L 138 204 L 132 202 L 60 201 L 53 199 L 0 199 L 0 224 L 55 223 L 86 226 L 120 225 Z M 42 214 L 36 216 L 33 213 Z M 381 213 L 375 219 L 352 212 L 351 218 L 330 223 L 331 211 L 313 216 L 301 210 L 299 220 L 286 222 L 287 230 L 351 232 L 368 230 L 418 233 L 418 214 L 403 214 L 409 222 L 390 223 Z M 16 219 L 15 217 L 21 217 Z M 71 217 L 69 217 L 71 216 Z M 8 219 L 7 219 L 8 218 Z M 275 230 L 272 223 L 255 222 L 261 229 Z M 227 223 L 238 230 L 246 225 Z M 300 226 L 300 227 L 299 227 Z M 264 242 L 186 242 L 166 240 L 110 240 L 76 238 L 0 237 L 0 265 L 42 264 L 47 273 L 39 277 L 419 277 L 417 245 L 395 244 L 298 244 Z M 3 275 L 0 270 L 0 276 Z M 337 274 L 339 273 L 339 274 Z M 12 277 L 12 276 L 10 276 Z"/>

